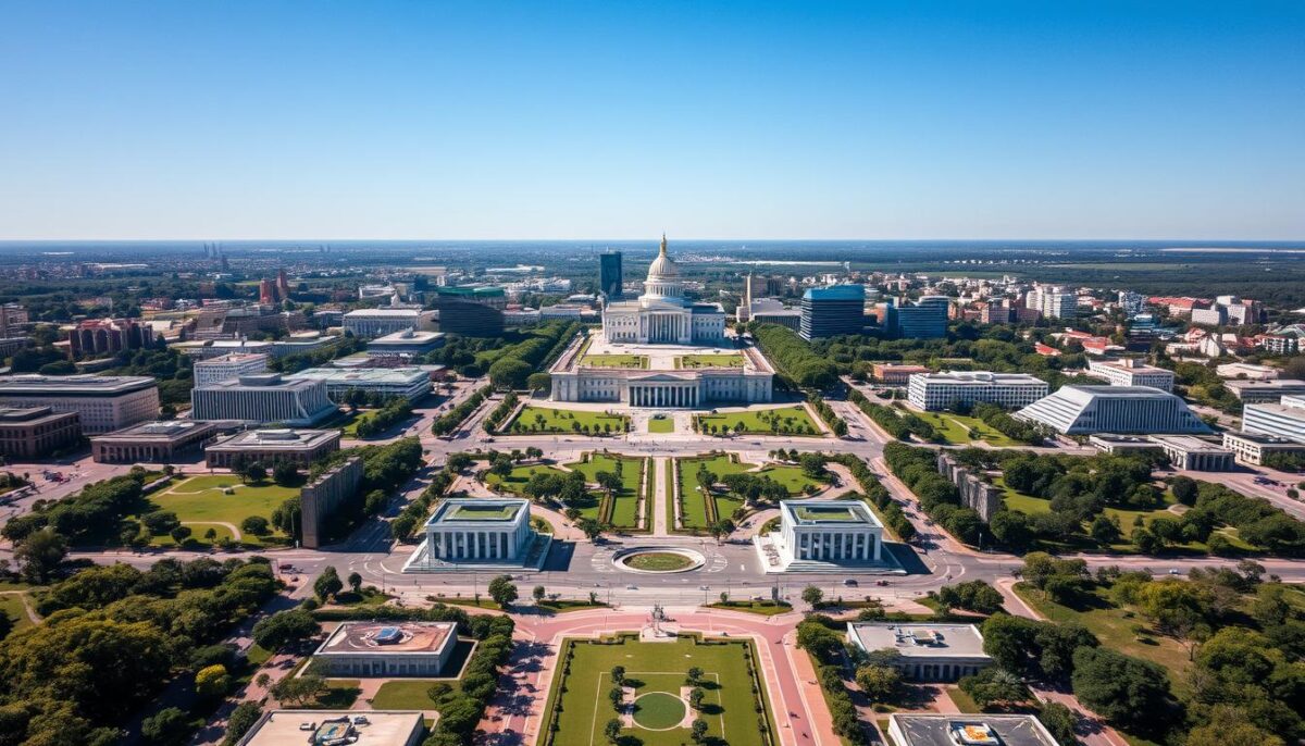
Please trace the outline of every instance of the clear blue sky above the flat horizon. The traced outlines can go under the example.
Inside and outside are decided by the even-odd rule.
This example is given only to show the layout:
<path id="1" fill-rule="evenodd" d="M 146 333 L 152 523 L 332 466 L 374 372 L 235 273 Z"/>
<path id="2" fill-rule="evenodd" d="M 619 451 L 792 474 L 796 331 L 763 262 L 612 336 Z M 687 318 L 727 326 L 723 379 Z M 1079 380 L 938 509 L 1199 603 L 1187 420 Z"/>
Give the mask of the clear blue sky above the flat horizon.
<path id="1" fill-rule="evenodd" d="M 0 239 L 1305 240 L 1305 3 L 0 0 Z"/>

